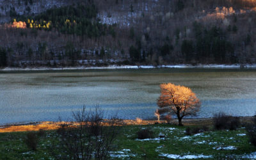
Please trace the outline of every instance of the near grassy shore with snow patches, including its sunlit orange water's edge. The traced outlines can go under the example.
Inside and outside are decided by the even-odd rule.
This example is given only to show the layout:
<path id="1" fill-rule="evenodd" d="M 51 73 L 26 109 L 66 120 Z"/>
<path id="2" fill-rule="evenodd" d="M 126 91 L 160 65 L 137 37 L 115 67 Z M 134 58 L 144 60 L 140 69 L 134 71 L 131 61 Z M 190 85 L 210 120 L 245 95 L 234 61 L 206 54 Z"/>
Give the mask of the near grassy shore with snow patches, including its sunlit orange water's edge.
<path id="1" fill-rule="evenodd" d="M 111 150 L 110 159 L 254 159 L 256 148 L 249 143 L 244 129 L 244 123 L 250 122 L 250 117 L 241 118 L 242 126 L 235 131 L 216 131 L 211 118 L 184 119 L 184 126 L 178 126 L 175 120 L 171 124 L 155 124 L 155 120 L 123 120 L 119 123 L 120 131 L 115 140 L 115 149 Z M 47 124 L 51 127 L 47 128 Z M 122 125 L 121 125 L 122 124 Z M 186 135 L 186 127 L 202 127 L 207 125 L 208 131 Z M 26 125 L 24 125 L 26 126 Z M 26 134 L 22 125 L 16 126 L 20 132 L 0 133 L 0 159 L 52 159 L 49 147 L 56 140 L 58 124 L 44 122 L 32 125 L 28 131 L 44 128 L 45 134 L 40 136 L 36 151 L 30 150 L 24 143 Z M 15 126 L 0 129 L 1 131 L 15 131 Z M 12 128 L 12 129 L 11 129 Z M 30 128 L 30 129 L 29 129 Z M 34 129 L 31 129 L 34 128 Z M 150 128 L 154 138 L 138 140 L 137 132 Z M 9 130 L 8 130 L 9 129 Z M 159 138 L 163 134 L 164 138 Z"/>

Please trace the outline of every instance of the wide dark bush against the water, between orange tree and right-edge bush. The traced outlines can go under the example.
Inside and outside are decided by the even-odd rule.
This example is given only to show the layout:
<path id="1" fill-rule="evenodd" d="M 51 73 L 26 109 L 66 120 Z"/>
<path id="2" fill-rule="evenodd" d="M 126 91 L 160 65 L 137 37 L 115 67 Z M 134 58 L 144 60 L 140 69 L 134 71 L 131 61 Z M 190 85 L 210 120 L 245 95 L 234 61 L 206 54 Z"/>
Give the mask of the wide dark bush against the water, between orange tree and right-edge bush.
<path id="1" fill-rule="evenodd" d="M 226 115 L 225 113 L 218 113 L 214 115 L 213 123 L 215 129 L 236 130 L 240 125 L 240 118 Z"/>

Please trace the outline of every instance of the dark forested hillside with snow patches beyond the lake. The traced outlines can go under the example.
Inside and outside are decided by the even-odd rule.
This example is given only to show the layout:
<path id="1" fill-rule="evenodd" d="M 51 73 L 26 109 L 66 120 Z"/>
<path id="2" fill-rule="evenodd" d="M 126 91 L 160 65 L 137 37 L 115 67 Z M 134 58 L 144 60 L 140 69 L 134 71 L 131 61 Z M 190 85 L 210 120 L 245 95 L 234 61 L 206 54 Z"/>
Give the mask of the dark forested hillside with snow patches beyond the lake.
<path id="1" fill-rule="evenodd" d="M 256 63 L 255 0 L 0 4 L 0 67 Z"/>

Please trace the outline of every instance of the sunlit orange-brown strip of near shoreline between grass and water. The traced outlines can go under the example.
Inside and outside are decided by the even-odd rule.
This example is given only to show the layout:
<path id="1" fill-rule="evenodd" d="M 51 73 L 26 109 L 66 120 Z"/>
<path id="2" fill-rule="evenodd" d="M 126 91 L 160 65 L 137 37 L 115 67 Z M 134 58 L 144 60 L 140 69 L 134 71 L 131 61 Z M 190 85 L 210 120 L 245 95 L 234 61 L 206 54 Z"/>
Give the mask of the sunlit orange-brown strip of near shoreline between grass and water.
<path id="1" fill-rule="evenodd" d="M 240 118 L 241 124 L 250 124 L 253 116 L 238 116 Z M 212 123 L 211 118 L 184 118 L 182 119 L 182 123 L 186 126 L 190 125 L 207 125 L 211 126 Z M 60 127 L 61 124 L 74 123 L 74 122 L 31 122 L 28 124 L 10 124 L 10 125 L 0 125 L 0 133 L 1 132 L 27 132 L 27 131 L 40 131 L 40 130 L 56 130 Z M 102 120 L 102 123 L 108 124 L 108 119 Z M 115 125 L 153 125 L 158 124 L 157 120 L 141 120 L 140 122 L 136 120 L 123 120 L 118 119 L 115 122 Z M 170 125 L 178 125 L 177 118 L 173 118 L 169 123 L 166 120 L 160 120 L 160 124 L 170 124 Z M 76 122 L 75 122 L 76 125 Z"/>

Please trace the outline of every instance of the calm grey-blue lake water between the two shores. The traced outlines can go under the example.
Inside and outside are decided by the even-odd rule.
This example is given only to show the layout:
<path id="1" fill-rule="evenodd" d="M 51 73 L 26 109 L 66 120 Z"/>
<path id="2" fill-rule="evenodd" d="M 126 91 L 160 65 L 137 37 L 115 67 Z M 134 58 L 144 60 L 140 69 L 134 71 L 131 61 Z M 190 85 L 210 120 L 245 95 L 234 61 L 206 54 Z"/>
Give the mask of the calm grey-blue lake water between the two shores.
<path id="1" fill-rule="evenodd" d="M 200 117 L 256 113 L 256 69 L 159 68 L 0 72 L 0 124 L 70 120 L 83 105 L 119 118 L 154 118 L 159 84 L 188 86 Z"/>

